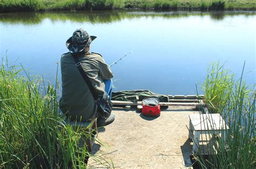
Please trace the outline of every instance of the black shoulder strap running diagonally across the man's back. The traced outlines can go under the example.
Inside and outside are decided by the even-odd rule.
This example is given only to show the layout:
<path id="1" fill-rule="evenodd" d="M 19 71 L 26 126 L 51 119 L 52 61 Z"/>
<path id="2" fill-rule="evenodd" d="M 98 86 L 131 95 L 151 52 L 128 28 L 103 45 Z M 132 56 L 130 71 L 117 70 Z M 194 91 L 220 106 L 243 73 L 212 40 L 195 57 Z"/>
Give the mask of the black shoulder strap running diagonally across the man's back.
<path id="1" fill-rule="evenodd" d="M 71 54 L 72 54 L 72 53 L 71 53 Z M 73 54 L 72 54 L 72 57 L 74 58 L 74 60 L 75 60 L 75 62 L 76 62 L 76 67 L 78 68 L 78 70 L 79 70 L 80 74 L 82 75 L 84 81 L 86 82 L 87 86 L 88 86 L 89 89 L 91 90 L 91 93 L 92 93 L 94 99 L 95 99 L 95 100 L 98 100 L 98 97 L 97 97 L 97 94 L 96 94 L 96 92 L 95 92 L 95 89 L 92 87 L 92 83 L 91 83 L 89 77 L 88 77 L 87 74 L 84 72 L 84 70 L 83 70 L 83 68 L 82 68 L 82 66 L 81 66 L 81 62 L 80 62 L 79 59 L 78 59 L 76 56 L 74 56 Z"/>

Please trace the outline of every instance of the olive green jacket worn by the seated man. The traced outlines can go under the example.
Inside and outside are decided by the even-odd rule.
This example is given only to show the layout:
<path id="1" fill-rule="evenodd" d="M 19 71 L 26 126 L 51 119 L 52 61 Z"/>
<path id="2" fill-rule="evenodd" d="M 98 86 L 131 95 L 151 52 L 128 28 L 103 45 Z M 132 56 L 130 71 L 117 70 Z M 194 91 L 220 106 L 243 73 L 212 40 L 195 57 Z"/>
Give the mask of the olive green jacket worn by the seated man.
<path id="1" fill-rule="evenodd" d="M 79 55 L 78 59 L 95 88 L 96 94 L 102 96 L 105 91 L 103 80 L 113 78 L 113 74 L 100 54 Z M 62 72 L 62 97 L 59 108 L 72 120 L 82 121 L 96 118 L 96 103 L 89 87 L 76 67 L 71 53 L 65 53 L 60 59 Z"/>

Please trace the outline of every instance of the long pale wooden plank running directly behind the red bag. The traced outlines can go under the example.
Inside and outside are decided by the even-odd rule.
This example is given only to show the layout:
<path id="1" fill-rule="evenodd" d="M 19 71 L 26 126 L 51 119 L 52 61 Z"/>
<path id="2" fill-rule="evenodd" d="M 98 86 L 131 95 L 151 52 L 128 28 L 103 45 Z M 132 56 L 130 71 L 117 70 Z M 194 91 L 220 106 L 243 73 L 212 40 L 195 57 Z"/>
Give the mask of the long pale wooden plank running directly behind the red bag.
<path id="1" fill-rule="evenodd" d="M 142 105 L 142 102 L 127 102 L 127 101 L 111 101 L 113 105 Z M 172 102 L 160 102 L 162 106 L 199 106 L 199 103 L 172 103 Z M 203 104 L 205 106 L 205 104 Z"/>

